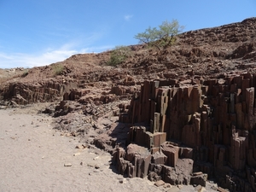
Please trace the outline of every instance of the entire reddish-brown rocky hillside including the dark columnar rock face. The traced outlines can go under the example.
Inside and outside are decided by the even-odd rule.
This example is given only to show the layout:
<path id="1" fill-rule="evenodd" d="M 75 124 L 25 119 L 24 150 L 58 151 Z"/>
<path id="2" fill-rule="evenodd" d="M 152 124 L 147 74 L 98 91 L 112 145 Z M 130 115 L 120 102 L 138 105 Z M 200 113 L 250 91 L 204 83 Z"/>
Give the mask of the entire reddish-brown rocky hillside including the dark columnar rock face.
<path id="1" fill-rule="evenodd" d="M 232 191 L 255 191 L 254 154 L 247 159 L 245 153 L 255 149 L 256 18 L 183 32 L 160 52 L 130 47 L 117 67 L 107 66 L 107 51 L 1 69 L 1 108 L 51 102 L 42 112 L 55 117 L 62 134 L 108 150 L 129 177 L 203 185 L 207 175 L 218 176 Z"/>

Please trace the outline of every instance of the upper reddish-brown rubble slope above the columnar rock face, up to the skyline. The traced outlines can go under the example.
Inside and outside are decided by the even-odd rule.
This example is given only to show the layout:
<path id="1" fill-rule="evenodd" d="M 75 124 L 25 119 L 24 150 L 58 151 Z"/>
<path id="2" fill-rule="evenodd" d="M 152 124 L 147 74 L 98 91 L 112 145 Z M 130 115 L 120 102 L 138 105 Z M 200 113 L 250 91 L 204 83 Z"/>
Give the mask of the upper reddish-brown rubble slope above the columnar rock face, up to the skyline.
<path id="1" fill-rule="evenodd" d="M 99 87 L 106 90 L 113 84 L 125 85 L 125 81 L 141 84 L 144 79 L 193 79 L 196 76 L 207 79 L 253 72 L 255 20 L 250 18 L 230 25 L 184 32 L 178 35 L 177 44 L 162 52 L 131 45 L 133 54 L 118 67 L 105 65 L 108 51 L 73 55 L 66 61 L 17 73 L 14 79 L 7 79 L 6 70 L 1 70 L 1 95 L 4 100 L 12 99 L 18 104 L 49 102 L 55 101 L 55 91 L 57 96 L 70 91 L 70 84 L 83 89 L 90 83 L 99 82 L 102 83 Z M 13 73 L 9 70 L 8 74 Z M 32 96 L 29 90 L 38 94 Z"/>

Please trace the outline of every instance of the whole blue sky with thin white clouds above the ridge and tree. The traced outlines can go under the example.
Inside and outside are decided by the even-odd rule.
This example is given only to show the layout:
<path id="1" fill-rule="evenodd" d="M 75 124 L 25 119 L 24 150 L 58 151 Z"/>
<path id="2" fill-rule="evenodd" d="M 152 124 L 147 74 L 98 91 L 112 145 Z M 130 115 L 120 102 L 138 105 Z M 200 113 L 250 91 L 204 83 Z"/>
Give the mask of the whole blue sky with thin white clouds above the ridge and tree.
<path id="1" fill-rule="evenodd" d="M 256 17 L 256 0 L 0 0 L 0 68 L 37 67 L 100 53 L 149 26 L 183 32 Z"/>

